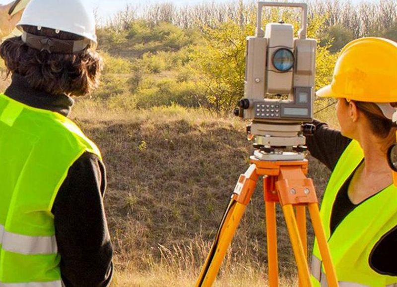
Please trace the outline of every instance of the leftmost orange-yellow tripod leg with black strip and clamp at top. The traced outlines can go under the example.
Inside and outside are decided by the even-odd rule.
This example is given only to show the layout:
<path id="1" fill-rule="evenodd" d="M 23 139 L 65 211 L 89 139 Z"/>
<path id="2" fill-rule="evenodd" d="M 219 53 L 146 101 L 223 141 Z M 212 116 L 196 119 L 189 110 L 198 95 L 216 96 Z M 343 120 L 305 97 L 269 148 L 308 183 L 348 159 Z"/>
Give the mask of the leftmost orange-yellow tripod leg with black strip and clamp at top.
<path id="1" fill-rule="evenodd" d="M 210 287 L 214 283 L 223 258 L 226 255 L 227 248 L 229 248 L 232 242 L 240 220 L 254 193 L 257 180 L 258 174 L 256 173 L 255 165 L 251 165 L 245 174 L 240 175 L 232 195 L 232 200 L 225 212 L 215 241 L 200 272 L 196 287 Z"/>

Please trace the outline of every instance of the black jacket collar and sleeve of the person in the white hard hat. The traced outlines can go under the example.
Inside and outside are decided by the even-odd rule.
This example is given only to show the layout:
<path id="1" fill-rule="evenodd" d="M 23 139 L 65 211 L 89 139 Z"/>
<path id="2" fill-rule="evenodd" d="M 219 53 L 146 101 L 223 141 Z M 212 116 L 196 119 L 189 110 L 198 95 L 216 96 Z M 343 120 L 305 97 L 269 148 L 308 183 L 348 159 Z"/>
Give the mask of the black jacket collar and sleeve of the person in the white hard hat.
<path id="1" fill-rule="evenodd" d="M 66 95 L 33 90 L 18 74 L 12 76 L 4 94 L 65 116 L 74 104 Z M 112 279 L 113 250 L 103 206 L 105 189 L 105 166 L 87 152 L 70 167 L 55 199 L 52 213 L 66 287 L 105 287 Z"/>

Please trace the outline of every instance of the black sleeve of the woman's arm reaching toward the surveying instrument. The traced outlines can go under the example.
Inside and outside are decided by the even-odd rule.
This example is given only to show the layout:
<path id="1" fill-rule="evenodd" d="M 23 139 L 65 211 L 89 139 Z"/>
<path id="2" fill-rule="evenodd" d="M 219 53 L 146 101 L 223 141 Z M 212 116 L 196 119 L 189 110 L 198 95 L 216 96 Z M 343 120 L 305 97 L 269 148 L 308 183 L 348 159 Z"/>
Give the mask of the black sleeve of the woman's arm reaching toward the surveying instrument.
<path id="1" fill-rule="evenodd" d="M 328 127 L 325 122 L 314 120 L 313 124 L 316 132 L 306 138 L 306 145 L 314 158 L 333 171 L 351 139 L 343 136 L 339 130 Z"/>

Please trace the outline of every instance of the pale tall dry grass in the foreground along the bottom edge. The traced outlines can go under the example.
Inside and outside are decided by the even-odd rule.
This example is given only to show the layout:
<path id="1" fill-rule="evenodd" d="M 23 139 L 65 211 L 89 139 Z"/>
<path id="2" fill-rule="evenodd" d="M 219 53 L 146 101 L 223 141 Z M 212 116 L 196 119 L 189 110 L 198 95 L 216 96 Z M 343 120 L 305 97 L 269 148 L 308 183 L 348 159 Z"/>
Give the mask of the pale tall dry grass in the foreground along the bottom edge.
<path id="1" fill-rule="evenodd" d="M 197 260 L 195 252 L 199 250 L 200 257 L 205 258 L 209 248 L 210 242 L 205 242 L 200 237 L 192 240 L 189 245 L 174 245 L 171 249 L 160 245 L 160 261 L 148 257 L 146 259 L 150 266 L 148 270 L 139 270 L 133 263 L 129 263 L 122 271 L 116 273 L 113 286 L 195 286 L 200 272 L 195 262 Z M 233 260 L 231 256 L 233 252 L 233 248 L 230 248 L 214 287 L 268 285 L 265 262 L 255 262 L 250 252 L 242 256 L 242 261 Z M 290 274 L 288 278 L 281 275 L 279 280 L 282 287 L 296 286 L 296 283 L 296 274 Z"/>

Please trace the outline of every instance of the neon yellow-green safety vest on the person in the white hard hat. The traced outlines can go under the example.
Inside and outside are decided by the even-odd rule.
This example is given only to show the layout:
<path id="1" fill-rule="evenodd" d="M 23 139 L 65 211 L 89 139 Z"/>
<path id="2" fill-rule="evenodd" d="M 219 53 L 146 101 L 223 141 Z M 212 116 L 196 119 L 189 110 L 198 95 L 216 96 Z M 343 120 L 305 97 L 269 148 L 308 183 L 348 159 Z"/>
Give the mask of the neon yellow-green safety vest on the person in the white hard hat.
<path id="1" fill-rule="evenodd" d="M 0 286 L 61 287 L 51 209 L 68 169 L 98 148 L 71 120 L 0 95 Z"/>

